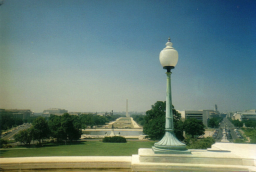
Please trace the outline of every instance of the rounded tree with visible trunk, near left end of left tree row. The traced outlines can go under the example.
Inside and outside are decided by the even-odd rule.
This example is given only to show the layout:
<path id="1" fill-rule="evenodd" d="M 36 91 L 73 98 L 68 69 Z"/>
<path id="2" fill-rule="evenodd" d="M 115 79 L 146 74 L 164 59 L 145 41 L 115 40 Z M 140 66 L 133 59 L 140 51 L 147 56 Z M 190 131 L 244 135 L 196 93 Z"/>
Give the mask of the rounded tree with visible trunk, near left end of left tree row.
<path id="1" fill-rule="evenodd" d="M 38 117 L 33 121 L 33 125 L 31 126 L 33 130 L 33 139 L 39 141 L 39 145 L 41 145 L 41 140 L 47 139 L 50 136 L 50 128 L 45 118 Z"/>

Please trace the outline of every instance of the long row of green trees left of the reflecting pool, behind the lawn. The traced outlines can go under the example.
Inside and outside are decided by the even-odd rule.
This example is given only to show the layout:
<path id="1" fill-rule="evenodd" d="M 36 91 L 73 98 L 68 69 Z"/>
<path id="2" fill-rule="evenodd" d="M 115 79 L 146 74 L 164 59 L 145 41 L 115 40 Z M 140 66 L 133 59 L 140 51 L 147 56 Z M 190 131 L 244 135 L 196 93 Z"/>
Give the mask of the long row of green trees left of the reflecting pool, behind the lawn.
<path id="1" fill-rule="evenodd" d="M 26 145 L 30 145 L 32 140 L 37 140 L 41 145 L 41 141 L 49 138 L 73 141 L 81 137 L 82 129 L 93 125 L 104 125 L 119 117 L 120 115 L 102 117 L 92 114 L 76 116 L 68 113 L 61 116 L 51 115 L 49 118 L 38 117 L 29 129 L 20 131 L 14 137 L 16 141 Z"/>

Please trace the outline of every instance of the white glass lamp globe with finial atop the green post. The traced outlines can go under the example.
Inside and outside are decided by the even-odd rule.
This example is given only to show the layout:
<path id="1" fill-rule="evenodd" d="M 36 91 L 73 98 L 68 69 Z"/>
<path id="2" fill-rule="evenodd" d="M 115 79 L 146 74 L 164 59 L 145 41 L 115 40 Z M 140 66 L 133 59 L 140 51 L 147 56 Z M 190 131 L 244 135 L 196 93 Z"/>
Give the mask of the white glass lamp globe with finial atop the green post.
<path id="1" fill-rule="evenodd" d="M 173 69 L 178 62 L 178 52 L 172 47 L 170 38 L 165 45 L 166 47 L 159 54 L 159 61 L 164 69 Z"/>

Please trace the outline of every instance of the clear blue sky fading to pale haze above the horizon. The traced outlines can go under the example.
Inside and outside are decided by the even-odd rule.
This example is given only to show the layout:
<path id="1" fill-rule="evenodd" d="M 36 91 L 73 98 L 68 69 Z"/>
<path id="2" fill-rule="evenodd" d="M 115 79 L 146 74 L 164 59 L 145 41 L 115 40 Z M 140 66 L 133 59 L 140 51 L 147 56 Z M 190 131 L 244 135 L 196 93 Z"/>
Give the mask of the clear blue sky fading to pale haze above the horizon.
<path id="1" fill-rule="evenodd" d="M 0 108 L 150 110 L 169 36 L 175 109 L 256 108 L 255 1 L 5 0 L 0 17 Z"/>

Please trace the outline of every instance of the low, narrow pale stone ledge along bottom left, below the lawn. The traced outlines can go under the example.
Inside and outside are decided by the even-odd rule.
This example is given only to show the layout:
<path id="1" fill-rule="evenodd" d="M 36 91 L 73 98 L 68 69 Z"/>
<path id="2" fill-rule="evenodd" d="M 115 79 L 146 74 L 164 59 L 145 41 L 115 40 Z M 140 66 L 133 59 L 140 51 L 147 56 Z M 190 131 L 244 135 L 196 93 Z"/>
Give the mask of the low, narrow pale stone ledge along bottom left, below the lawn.
<path id="1" fill-rule="evenodd" d="M 0 158 L 0 169 L 131 169 L 131 161 L 131 156 Z"/>

